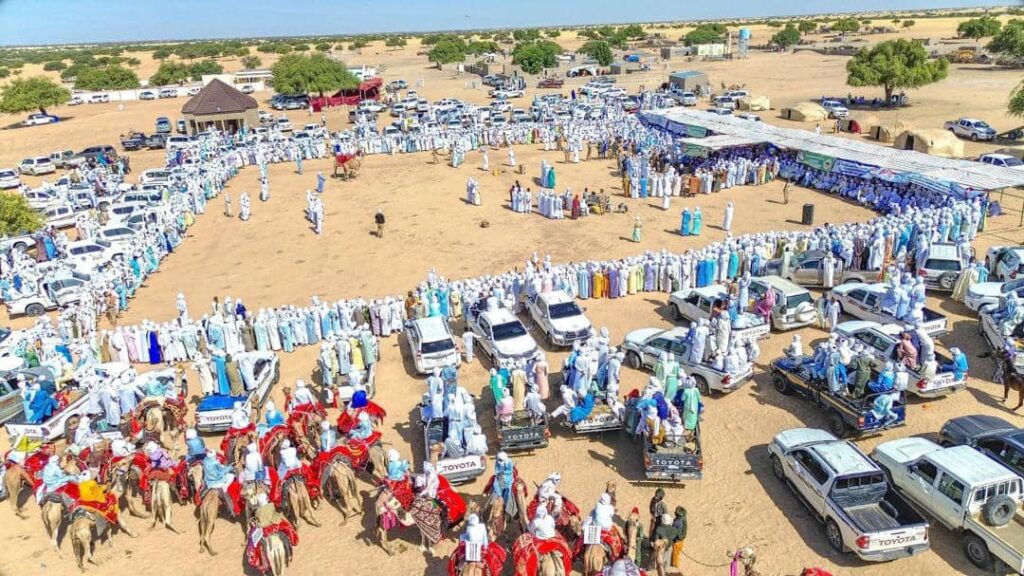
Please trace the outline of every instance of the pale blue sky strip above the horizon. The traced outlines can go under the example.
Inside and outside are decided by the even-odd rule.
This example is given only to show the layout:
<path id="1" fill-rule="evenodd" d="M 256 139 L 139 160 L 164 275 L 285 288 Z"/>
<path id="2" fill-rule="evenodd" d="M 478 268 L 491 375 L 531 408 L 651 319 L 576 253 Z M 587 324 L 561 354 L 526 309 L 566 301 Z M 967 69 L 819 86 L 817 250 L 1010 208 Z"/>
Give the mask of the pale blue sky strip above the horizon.
<path id="1" fill-rule="evenodd" d="M 0 0 L 0 45 L 321 36 L 991 6 L 997 0 Z"/>

